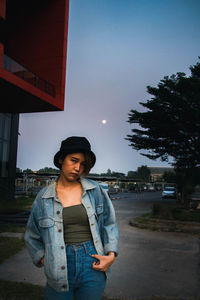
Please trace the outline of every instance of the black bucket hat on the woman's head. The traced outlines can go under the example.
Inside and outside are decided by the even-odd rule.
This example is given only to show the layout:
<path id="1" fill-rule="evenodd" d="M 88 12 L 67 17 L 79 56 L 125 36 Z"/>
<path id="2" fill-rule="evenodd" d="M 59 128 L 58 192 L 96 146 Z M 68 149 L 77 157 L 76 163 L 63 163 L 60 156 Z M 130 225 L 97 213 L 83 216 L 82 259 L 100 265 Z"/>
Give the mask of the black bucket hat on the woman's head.
<path id="1" fill-rule="evenodd" d="M 96 156 L 91 151 L 91 145 L 89 141 L 85 137 L 80 136 L 71 136 L 66 140 L 61 142 L 60 150 L 54 156 L 54 165 L 61 169 L 61 164 L 59 163 L 59 159 L 70 153 L 89 153 L 92 160 L 92 167 L 96 162 Z"/>

